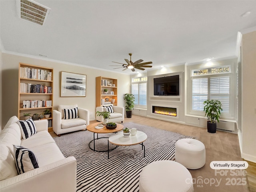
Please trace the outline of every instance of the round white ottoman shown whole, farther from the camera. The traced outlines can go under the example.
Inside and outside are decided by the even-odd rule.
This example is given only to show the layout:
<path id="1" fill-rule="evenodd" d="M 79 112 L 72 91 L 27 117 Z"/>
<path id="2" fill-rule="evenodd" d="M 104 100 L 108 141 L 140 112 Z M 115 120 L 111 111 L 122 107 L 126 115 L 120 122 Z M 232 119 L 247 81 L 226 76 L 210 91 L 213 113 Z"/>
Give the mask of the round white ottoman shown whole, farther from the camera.
<path id="1" fill-rule="evenodd" d="M 175 160 L 188 169 L 201 168 L 205 164 L 204 144 L 189 138 L 176 141 Z"/>

